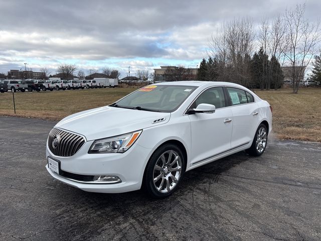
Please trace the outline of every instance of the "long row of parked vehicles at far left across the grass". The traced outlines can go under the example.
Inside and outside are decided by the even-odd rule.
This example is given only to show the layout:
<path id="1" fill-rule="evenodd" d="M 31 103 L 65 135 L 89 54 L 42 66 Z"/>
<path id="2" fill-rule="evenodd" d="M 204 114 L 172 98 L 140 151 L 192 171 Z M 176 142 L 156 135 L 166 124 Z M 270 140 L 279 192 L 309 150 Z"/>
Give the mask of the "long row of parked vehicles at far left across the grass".
<path id="1" fill-rule="evenodd" d="M 117 79 L 96 78 L 93 80 L 0 80 L 0 92 L 17 90 L 25 92 L 53 91 L 66 89 L 112 88 L 118 85 Z"/>

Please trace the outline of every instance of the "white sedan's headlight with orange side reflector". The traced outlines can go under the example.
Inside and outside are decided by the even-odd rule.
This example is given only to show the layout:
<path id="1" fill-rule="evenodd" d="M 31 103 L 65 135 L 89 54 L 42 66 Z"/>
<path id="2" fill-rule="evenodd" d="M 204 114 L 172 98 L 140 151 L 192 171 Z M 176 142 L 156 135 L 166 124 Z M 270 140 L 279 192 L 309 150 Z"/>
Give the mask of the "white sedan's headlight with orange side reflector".
<path id="1" fill-rule="evenodd" d="M 138 139 L 142 130 L 94 141 L 88 153 L 123 153 Z"/>

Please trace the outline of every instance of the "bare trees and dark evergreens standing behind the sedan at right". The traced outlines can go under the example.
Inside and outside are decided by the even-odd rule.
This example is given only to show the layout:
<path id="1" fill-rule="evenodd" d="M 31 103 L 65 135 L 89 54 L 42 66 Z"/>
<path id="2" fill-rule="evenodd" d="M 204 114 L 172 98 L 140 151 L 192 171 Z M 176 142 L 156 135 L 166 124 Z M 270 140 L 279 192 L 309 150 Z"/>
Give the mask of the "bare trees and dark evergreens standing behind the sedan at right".
<path id="1" fill-rule="evenodd" d="M 305 4 L 297 5 L 271 21 L 265 18 L 258 31 L 249 18 L 223 23 L 209 42 L 198 78 L 278 88 L 283 78 L 281 67 L 287 65 L 293 93 L 297 93 L 306 66 L 320 51 L 321 40 L 319 22 L 309 22 L 304 11 Z M 259 50 L 253 54 L 255 48 Z"/>

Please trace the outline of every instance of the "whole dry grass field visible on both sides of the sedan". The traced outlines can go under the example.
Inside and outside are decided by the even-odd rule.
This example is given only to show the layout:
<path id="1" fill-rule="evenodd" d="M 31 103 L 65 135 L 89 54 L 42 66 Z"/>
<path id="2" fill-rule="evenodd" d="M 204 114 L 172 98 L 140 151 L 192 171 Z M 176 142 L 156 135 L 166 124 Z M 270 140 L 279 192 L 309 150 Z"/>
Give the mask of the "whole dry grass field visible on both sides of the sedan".
<path id="1" fill-rule="evenodd" d="M 0 115 L 23 116 L 58 121 L 85 109 L 112 103 L 134 88 L 106 88 L 66 91 L 0 93 Z M 273 107 L 273 132 L 278 139 L 321 142 L 321 88 L 261 91 L 256 94 Z"/>

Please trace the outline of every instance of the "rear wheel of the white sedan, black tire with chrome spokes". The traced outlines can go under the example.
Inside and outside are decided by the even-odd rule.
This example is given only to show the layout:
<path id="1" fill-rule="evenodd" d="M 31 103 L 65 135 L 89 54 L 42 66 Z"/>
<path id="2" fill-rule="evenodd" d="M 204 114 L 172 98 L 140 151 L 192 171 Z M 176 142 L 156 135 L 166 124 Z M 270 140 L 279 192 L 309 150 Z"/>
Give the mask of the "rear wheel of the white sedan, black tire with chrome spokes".
<path id="1" fill-rule="evenodd" d="M 265 133 L 262 133 L 262 131 Z M 267 128 L 264 124 L 261 124 L 256 132 L 252 142 L 252 145 L 249 149 L 245 150 L 247 154 L 253 157 L 261 156 L 267 145 Z"/>

